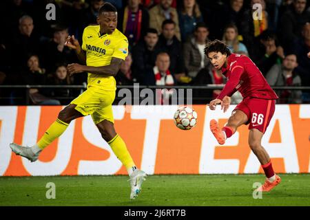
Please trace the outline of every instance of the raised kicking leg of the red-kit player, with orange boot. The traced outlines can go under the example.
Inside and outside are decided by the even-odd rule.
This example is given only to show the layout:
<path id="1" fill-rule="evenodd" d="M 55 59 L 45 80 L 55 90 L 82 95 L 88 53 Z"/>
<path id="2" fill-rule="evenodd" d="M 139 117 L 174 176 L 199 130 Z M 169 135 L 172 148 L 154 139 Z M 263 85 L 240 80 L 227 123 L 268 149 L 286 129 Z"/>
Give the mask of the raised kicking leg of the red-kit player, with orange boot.
<path id="1" fill-rule="evenodd" d="M 225 140 L 236 132 L 238 126 L 246 124 L 247 120 L 247 115 L 243 111 L 237 109 L 233 111 L 223 129 L 220 129 L 216 120 L 210 121 L 210 129 L 214 137 L 216 137 L 218 144 L 225 144 Z"/>

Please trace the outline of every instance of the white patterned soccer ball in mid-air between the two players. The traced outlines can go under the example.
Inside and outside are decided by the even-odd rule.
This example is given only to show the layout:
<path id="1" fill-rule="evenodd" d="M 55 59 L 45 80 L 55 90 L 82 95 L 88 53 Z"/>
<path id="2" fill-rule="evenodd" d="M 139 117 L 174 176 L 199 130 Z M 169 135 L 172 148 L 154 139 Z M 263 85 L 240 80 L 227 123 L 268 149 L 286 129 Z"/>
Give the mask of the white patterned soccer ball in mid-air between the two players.
<path id="1" fill-rule="evenodd" d="M 197 113 L 194 109 L 189 107 L 180 107 L 174 113 L 174 124 L 179 129 L 189 130 L 192 129 L 197 123 Z"/>

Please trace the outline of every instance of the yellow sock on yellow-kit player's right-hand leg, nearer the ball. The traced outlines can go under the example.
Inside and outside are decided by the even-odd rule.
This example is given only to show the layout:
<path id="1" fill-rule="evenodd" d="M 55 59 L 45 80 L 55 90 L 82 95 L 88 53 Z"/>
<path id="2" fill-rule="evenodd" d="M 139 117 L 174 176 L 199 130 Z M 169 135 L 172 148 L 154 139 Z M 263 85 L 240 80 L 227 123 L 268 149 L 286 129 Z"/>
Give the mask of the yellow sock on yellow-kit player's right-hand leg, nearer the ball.
<path id="1" fill-rule="evenodd" d="M 135 168 L 136 165 L 134 164 L 134 160 L 132 159 L 132 156 L 130 156 L 130 153 L 127 150 L 127 146 L 121 136 L 116 135 L 112 138 L 112 140 L 110 140 L 110 142 L 107 142 L 107 144 L 111 146 L 112 151 L 116 157 L 121 160 L 128 173 L 130 174 L 130 170 Z"/>

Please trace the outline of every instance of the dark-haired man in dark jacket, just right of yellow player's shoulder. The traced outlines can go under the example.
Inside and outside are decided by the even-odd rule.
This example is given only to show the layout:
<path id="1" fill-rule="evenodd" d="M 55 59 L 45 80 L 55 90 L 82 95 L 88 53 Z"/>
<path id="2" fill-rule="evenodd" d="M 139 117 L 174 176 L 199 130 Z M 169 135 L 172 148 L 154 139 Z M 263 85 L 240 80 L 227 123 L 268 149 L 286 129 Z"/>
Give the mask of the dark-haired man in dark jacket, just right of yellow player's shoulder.
<path id="1" fill-rule="evenodd" d="M 134 78 L 138 82 L 143 82 L 145 72 L 152 70 L 156 56 L 159 52 L 158 45 L 158 33 L 154 28 L 149 28 L 146 31 L 144 41 L 137 43 L 132 48 L 132 70 Z"/>

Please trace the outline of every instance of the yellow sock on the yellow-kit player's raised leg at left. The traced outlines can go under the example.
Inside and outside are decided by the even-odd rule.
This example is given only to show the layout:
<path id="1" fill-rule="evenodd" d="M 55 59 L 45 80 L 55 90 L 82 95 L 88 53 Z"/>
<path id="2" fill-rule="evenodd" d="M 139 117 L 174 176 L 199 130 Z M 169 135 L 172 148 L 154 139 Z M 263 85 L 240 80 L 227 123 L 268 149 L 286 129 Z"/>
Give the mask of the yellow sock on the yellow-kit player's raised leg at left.
<path id="1" fill-rule="evenodd" d="M 43 135 L 43 137 L 41 137 L 41 139 L 37 143 L 37 146 L 39 146 L 39 148 L 43 150 L 46 146 L 52 143 L 57 137 L 59 137 L 65 131 L 65 129 L 68 128 L 68 125 L 69 124 L 57 118 L 57 120 L 50 125 L 48 130 L 45 131 L 45 134 Z"/>

